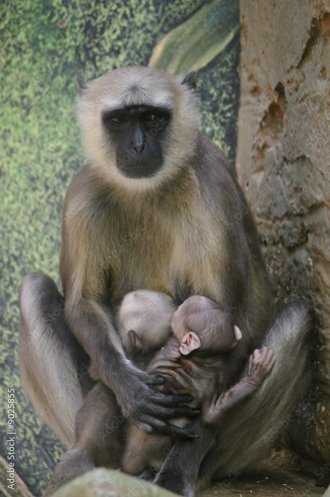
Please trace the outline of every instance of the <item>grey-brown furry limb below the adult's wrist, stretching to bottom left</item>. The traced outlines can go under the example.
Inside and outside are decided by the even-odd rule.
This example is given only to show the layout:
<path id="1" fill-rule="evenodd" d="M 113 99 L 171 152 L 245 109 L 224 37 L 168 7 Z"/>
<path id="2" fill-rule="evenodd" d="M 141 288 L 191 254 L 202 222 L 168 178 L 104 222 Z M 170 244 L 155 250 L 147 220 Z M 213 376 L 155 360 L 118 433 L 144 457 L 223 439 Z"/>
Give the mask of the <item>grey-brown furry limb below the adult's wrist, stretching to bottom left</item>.
<path id="1" fill-rule="evenodd" d="M 56 466 L 43 497 L 95 467 L 119 468 L 124 424 L 115 394 L 99 382 L 76 415 L 74 444 Z"/>

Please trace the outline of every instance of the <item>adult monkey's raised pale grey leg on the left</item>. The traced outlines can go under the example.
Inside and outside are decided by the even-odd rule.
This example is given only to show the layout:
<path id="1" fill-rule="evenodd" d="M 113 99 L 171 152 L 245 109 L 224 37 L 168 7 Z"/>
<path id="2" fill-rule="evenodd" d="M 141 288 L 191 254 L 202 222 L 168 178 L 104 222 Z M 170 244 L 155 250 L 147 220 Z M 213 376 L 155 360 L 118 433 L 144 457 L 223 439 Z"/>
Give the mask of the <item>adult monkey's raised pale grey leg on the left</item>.
<path id="1" fill-rule="evenodd" d="M 67 444 L 74 440 L 75 414 L 93 386 L 89 357 L 64 320 L 64 298 L 54 281 L 30 273 L 19 289 L 18 358 L 25 393 Z"/>

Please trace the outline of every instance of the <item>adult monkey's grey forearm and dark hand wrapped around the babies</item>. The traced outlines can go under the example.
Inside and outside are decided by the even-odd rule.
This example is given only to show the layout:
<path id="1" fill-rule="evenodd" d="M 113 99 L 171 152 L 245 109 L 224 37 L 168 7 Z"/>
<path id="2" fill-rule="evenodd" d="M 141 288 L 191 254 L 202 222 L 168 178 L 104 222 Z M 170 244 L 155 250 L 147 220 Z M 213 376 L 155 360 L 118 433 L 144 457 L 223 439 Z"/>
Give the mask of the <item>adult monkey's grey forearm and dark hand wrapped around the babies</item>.
<path id="1" fill-rule="evenodd" d="M 81 297 L 76 305 L 66 307 L 66 319 L 91 357 L 94 370 L 115 393 L 125 417 L 146 433 L 190 437 L 189 429 L 178 428 L 164 419 L 198 415 L 197 410 L 178 405 L 190 402 L 192 397 L 156 393 L 151 386 L 162 383 L 163 378 L 140 371 L 125 357 L 110 316 L 97 302 Z"/>

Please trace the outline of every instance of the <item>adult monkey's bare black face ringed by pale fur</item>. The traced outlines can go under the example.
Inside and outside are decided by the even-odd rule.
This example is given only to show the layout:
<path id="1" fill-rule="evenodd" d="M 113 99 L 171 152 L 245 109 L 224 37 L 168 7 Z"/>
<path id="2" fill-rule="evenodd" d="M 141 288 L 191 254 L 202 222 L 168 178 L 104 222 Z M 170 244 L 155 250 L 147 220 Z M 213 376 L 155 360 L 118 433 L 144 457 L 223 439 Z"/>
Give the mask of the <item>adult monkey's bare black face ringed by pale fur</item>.
<path id="1" fill-rule="evenodd" d="M 124 176 L 147 178 L 162 167 L 171 118 L 169 108 L 149 105 L 102 111 L 103 125 L 115 146 L 117 168 Z"/>

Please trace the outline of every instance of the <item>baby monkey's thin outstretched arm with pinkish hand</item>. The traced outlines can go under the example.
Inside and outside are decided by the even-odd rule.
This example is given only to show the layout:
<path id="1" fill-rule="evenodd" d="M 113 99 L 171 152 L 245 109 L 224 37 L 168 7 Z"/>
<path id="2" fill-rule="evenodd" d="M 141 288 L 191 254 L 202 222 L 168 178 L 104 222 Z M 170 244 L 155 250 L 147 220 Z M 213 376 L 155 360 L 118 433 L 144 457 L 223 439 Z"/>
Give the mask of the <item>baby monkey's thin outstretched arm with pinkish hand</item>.
<path id="1" fill-rule="evenodd" d="M 250 355 L 247 376 L 212 402 L 204 413 L 204 420 L 208 423 L 218 422 L 224 414 L 255 392 L 271 370 L 274 361 L 272 350 L 268 350 L 267 347 L 256 349 Z"/>

